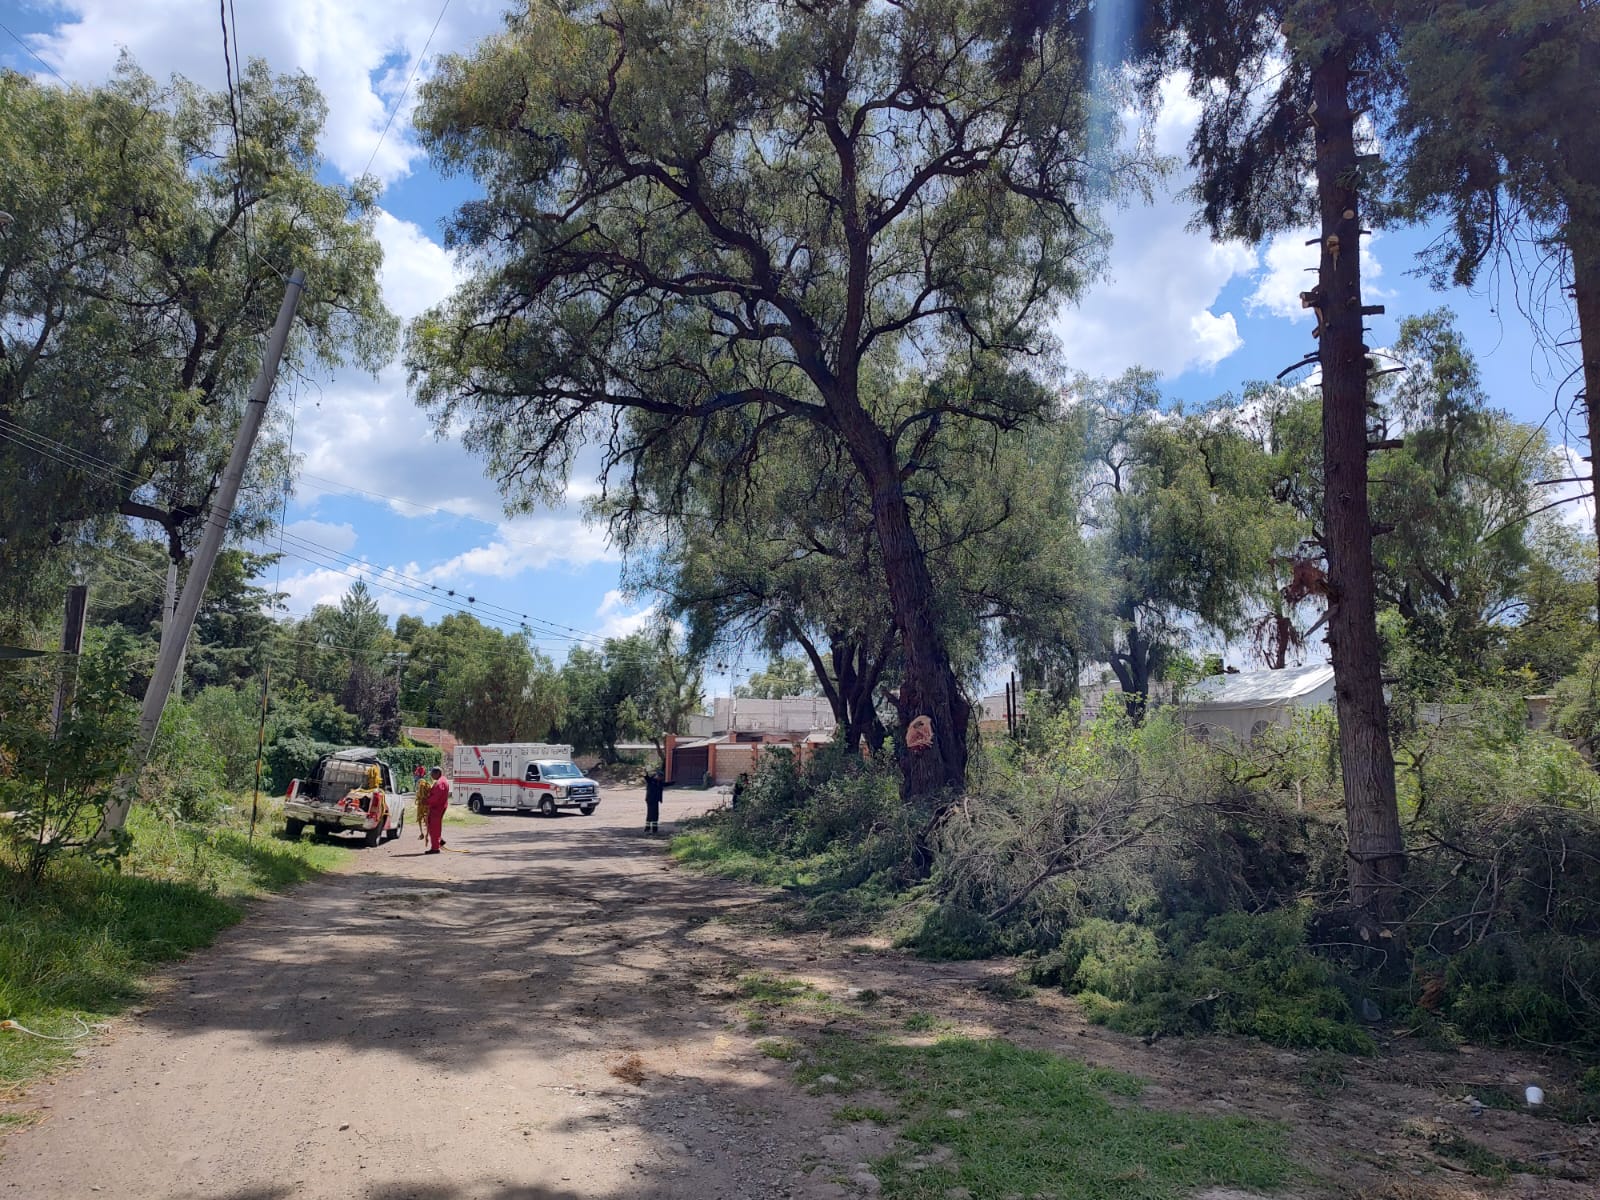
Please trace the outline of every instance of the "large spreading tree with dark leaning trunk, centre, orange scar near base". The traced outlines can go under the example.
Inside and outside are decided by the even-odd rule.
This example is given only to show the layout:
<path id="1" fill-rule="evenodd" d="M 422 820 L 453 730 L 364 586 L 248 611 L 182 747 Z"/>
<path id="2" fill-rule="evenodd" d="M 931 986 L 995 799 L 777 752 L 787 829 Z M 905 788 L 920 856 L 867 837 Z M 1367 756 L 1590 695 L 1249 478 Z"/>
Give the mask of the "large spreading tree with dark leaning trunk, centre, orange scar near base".
<path id="1" fill-rule="evenodd" d="M 408 362 L 525 499 L 595 438 L 610 477 L 738 430 L 837 442 L 870 498 L 899 630 L 907 795 L 962 787 L 968 706 L 904 475 L 941 422 L 1010 429 L 1013 360 L 1078 286 L 1083 74 L 1042 35 L 1011 80 L 974 0 L 536 5 L 446 59 L 419 128 L 477 176 L 450 235 L 472 275 Z M 917 371 L 910 389 L 869 376 Z M 954 381 L 954 382 L 944 382 Z"/>

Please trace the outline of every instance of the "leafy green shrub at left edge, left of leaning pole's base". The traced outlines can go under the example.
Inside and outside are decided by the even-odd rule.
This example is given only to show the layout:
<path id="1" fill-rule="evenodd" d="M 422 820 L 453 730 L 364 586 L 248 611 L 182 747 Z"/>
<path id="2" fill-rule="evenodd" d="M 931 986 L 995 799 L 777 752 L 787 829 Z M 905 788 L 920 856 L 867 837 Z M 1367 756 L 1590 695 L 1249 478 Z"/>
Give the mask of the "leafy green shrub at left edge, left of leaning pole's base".
<path id="1" fill-rule="evenodd" d="M 138 726 L 125 651 L 123 640 L 112 640 L 77 658 L 6 662 L 0 670 L 0 811 L 11 813 L 0 821 L 0 848 L 32 883 L 64 856 L 122 848 L 93 837 Z M 56 686 L 64 680 L 70 702 L 53 728 Z"/>

